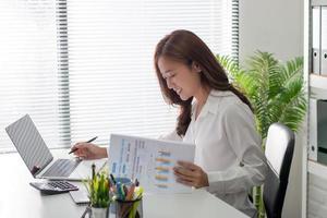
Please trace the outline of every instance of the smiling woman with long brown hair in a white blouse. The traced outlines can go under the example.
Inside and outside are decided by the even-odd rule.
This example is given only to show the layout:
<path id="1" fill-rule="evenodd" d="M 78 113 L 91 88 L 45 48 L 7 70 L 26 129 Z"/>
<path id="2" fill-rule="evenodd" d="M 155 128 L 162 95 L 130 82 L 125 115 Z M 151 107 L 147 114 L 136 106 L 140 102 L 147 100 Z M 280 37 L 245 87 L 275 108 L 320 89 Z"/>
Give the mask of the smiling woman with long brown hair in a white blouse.
<path id="1" fill-rule="evenodd" d="M 251 187 L 265 180 L 267 165 L 250 101 L 228 81 L 209 48 L 192 32 L 174 31 L 155 52 L 155 69 L 166 101 L 180 108 L 166 140 L 195 144 L 195 161 L 179 161 L 177 181 L 205 187 L 251 217 Z M 107 157 L 106 148 L 75 145 L 77 156 Z M 81 149 L 80 149 L 81 148 Z"/>

